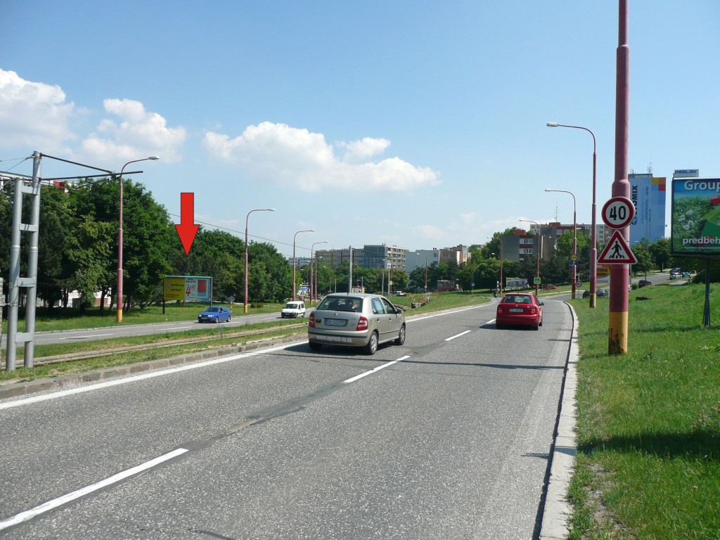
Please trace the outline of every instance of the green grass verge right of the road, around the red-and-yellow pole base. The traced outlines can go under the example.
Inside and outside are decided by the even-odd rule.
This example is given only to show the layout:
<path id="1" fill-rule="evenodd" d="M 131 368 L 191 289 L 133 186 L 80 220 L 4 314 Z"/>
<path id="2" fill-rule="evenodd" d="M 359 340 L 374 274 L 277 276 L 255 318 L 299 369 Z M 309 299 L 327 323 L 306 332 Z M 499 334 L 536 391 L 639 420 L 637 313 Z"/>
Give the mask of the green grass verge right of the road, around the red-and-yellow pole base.
<path id="1" fill-rule="evenodd" d="M 715 324 L 704 328 L 702 285 L 630 299 L 628 352 L 616 356 L 609 299 L 595 310 L 572 302 L 581 358 L 571 538 L 719 539 L 720 309 L 711 302 Z"/>

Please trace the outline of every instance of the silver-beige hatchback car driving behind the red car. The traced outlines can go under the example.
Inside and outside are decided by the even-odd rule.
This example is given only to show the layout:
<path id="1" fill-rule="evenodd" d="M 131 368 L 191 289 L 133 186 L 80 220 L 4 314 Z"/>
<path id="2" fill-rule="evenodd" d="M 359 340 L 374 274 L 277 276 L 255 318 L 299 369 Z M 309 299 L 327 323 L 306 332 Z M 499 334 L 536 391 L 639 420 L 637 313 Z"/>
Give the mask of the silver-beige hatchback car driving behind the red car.
<path id="1" fill-rule="evenodd" d="M 405 343 L 405 315 L 379 294 L 328 294 L 310 313 L 307 342 L 311 351 L 342 345 L 375 354 L 379 344 L 388 341 Z"/>

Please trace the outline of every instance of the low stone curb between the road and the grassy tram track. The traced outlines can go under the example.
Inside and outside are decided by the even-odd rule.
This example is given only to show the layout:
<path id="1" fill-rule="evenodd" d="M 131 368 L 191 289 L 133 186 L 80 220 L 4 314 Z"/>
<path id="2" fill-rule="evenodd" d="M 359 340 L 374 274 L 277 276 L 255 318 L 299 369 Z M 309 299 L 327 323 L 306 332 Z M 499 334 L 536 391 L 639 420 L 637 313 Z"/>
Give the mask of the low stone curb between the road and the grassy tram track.
<path id="1" fill-rule="evenodd" d="M 43 392 L 45 390 L 55 390 L 81 382 L 102 381 L 104 379 L 113 379 L 115 377 L 122 377 L 123 375 L 133 373 L 148 372 L 152 369 L 166 369 L 168 367 L 189 364 L 198 360 L 214 359 L 220 358 L 221 356 L 228 356 L 230 354 L 256 351 L 259 348 L 271 347 L 279 343 L 292 343 L 294 341 L 298 341 L 298 339 L 297 334 L 295 334 L 294 336 L 284 336 L 283 338 L 254 341 L 253 343 L 246 343 L 245 345 L 240 346 L 214 348 L 209 351 L 183 354 L 172 358 L 138 362 L 138 364 L 125 364 L 123 366 L 96 369 L 92 372 L 59 375 L 58 377 L 52 377 L 49 379 L 35 379 L 27 382 L 10 382 L 0 386 L 0 400 L 7 399 L 9 397 L 34 394 L 35 392 Z"/>

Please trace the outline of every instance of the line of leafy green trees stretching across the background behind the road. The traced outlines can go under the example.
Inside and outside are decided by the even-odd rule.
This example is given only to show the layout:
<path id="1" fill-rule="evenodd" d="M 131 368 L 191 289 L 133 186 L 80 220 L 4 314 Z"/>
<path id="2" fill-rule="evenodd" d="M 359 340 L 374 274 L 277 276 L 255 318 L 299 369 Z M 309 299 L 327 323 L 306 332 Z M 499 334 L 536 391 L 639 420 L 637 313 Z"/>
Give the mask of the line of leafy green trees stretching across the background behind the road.
<path id="1" fill-rule="evenodd" d="M 213 300 L 243 301 L 245 289 L 245 243 L 222 230 L 199 229 L 192 250 L 186 256 L 174 222 L 165 207 L 153 199 L 143 184 L 123 181 L 123 310 L 145 307 L 162 300 L 163 276 L 212 276 Z M 9 268 L 12 182 L 0 193 L 0 271 Z M 29 197 L 24 197 L 23 216 L 30 215 Z M 78 291 L 80 308 L 94 305 L 100 294 L 100 305 L 110 297 L 111 307 L 117 288 L 117 242 L 120 214 L 120 185 L 109 179 L 78 181 L 66 186 L 42 186 L 40 190 L 40 233 L 37 252 L 37 297 L 48 307 L 68 304 L 68 294 Z M 485 246 L 471 246 L 469 259 L 418 266 L 407 274 L 402 269 L 364 269 L 354 266 L 353 283 L 349 282 L 348 261 L 330 266 L 319 261 L 313 282 L 318 292 L 346 292 L 348 287 L 364 287 L 367 292 L 432 291 L 438 280 L 454 281 L 463 290 L 495 289 L 500 281 L 500 237 L 512 234 L 514 228 L 495 233 Z M 22 235 L 21 275 L 27 275 L 27 241 Z M 598 253 L 602 246 L 598 246 Z M 670 254 L 670 240 L 643 241 L 632 246 L 638 264 L 635 272 L 675 264 Z M 570 256 L 572 233 L 558 238 L 549 261 L 541 261 L 543 284 L 569 283 L 572 275 Z M 590 238 L 577 233 L 578 276 L 590 274 Z M 688 266 L 688 259 L 683 264 Z M 296 271 L 296 289 L 310 281 L 310 268 Z M 6 275 L 6 274 L 5 274 Z M 251 242 L 248 246 L 248 303 L 284 302 L 292 295 L 292 262 L 271 243 Z M 520 277 L 533 283 L 536 258 L 503 261 L 503 278 Z M 4 282 L 4 293 L 8 292 Z"/>

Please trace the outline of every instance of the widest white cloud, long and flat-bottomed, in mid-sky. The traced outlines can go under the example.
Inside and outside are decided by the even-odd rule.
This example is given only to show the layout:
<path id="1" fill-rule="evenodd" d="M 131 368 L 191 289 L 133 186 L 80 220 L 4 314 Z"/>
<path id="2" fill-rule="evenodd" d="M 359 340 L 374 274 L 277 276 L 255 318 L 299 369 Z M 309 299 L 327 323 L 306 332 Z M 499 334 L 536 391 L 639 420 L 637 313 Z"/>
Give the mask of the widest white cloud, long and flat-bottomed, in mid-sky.
<path id="1" fill-rule="evenodd" d="M 305 192 L 326 188 L 401 192 L 438 184 L 438 174 L 431 168 L 416 167 L 400 158 L 355 162 L 382 153 L 390 145 L 384 139 L 339 143 L 348 150 L 349 161 L 338 158 L 321 133 L 272 122 L 248 126 L 243 135 L 233 139 L 207 132 L 203 144 L 213 156 L 238 163 L 258 180 L 293 185 Z"/>

